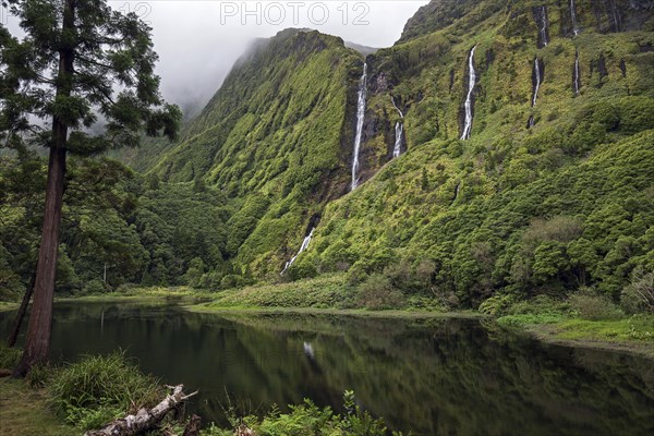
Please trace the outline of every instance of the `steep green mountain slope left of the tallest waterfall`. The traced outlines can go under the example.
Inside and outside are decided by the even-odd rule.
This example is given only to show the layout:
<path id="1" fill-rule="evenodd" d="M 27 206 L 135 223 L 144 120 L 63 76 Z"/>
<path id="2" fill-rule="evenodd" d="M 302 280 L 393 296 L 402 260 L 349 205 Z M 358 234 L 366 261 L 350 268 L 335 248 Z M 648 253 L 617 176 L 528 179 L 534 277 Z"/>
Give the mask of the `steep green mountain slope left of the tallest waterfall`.
<path id="1" fill-rule="evenodd" d="M 259 41 L 152 170 L 168 182 L 201 178 L 228 196 L 226 257 L 238 270 L 278 275 L 322 205 L 346 192 L 361 64 L 317 32 Z"/>

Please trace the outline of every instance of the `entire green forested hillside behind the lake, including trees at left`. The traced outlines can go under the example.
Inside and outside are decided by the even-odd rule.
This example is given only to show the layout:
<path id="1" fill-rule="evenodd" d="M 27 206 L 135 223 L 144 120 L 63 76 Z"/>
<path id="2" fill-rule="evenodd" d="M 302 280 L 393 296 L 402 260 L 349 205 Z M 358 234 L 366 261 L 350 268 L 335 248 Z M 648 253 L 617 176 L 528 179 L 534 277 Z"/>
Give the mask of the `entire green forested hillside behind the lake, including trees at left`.
<path id="1" fill-rule="evenodd" d="M 313 31 L 258 41 L 180 141 L 121 155 L 137 172 L 75 164 L 71 186 L 90 187 L 66 191 L 60 290 L 343 272 L 451 307 L 583 286 L 617 299 L 654 269 L 653 10 L 435 0 L 365 59 Z M 25 150 L 1 165 L 0 280 L 15 296 L 44 164 Z"/>

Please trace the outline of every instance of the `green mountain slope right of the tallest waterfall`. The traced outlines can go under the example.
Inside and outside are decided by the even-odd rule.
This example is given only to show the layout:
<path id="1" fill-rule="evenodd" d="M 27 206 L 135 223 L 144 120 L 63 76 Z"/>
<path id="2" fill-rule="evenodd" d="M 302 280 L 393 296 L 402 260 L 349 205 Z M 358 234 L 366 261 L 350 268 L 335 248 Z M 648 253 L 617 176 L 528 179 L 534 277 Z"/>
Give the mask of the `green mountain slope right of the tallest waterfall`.
<path id="1" fill-rule="evenodd" d="M 652 4 L 425 7 L 367 58 L 364 167 L 392 157 L 398 123 L 408 153 L 329 205 L 295 268 L 355 279 L 404 258 L 464 305 L 498 289 L 616 296 L 654 268 Z"/>

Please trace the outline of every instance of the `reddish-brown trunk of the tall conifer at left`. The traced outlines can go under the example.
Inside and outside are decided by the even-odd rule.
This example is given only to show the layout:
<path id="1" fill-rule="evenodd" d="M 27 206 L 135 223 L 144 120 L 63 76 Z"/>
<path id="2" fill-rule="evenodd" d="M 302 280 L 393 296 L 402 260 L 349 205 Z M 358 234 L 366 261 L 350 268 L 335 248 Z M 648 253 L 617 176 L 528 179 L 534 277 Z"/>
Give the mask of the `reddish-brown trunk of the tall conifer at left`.
<path id="1" fill-rule="evenodd" d="M 63 9 L 62 35 L 72 35 L 75 27 L 75 0 L 65 0 Z M 73 85 L 74 41 L 66 40 L 59 51 L 59 72 L 57 76 L 57 98 L 70 97 Z M 38 251 L 36 278 L 34 281 L 34 301 L 29 326 L 25 339 L 25 349 L 14 377 L 22 377 L 32 366 L 48 359 L 50 351 L 50 331 L 52 329 L 52 301 L 57 272 L 57 254 L 61 227 L 61 204 L 65 179 L 65 145 L 68 125 L 55 116 L 52 118 L 52 137 L 50 159 L 48 161 L 48 182 L 46 186 L 46 209 Z"/>

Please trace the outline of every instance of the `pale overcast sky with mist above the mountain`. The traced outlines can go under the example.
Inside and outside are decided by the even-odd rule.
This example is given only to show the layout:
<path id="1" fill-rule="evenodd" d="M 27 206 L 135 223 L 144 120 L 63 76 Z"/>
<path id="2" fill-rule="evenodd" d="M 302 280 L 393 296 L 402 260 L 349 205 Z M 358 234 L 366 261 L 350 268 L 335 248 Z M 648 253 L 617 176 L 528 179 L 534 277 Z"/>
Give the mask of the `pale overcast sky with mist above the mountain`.
<path id="1" fill-rule="evenodd" d="M 288 27 L 310 27 L 364 46 L 389 47 L 399 39 L 407 20 L 426 3 L 109 0 L 112 8 L 135 12 L 153 27 L 161 92 L 182 109 L 208 101 L 254 38 L 267 38 Z M 9 25 L 15 29 L 11 16 Z"/>

